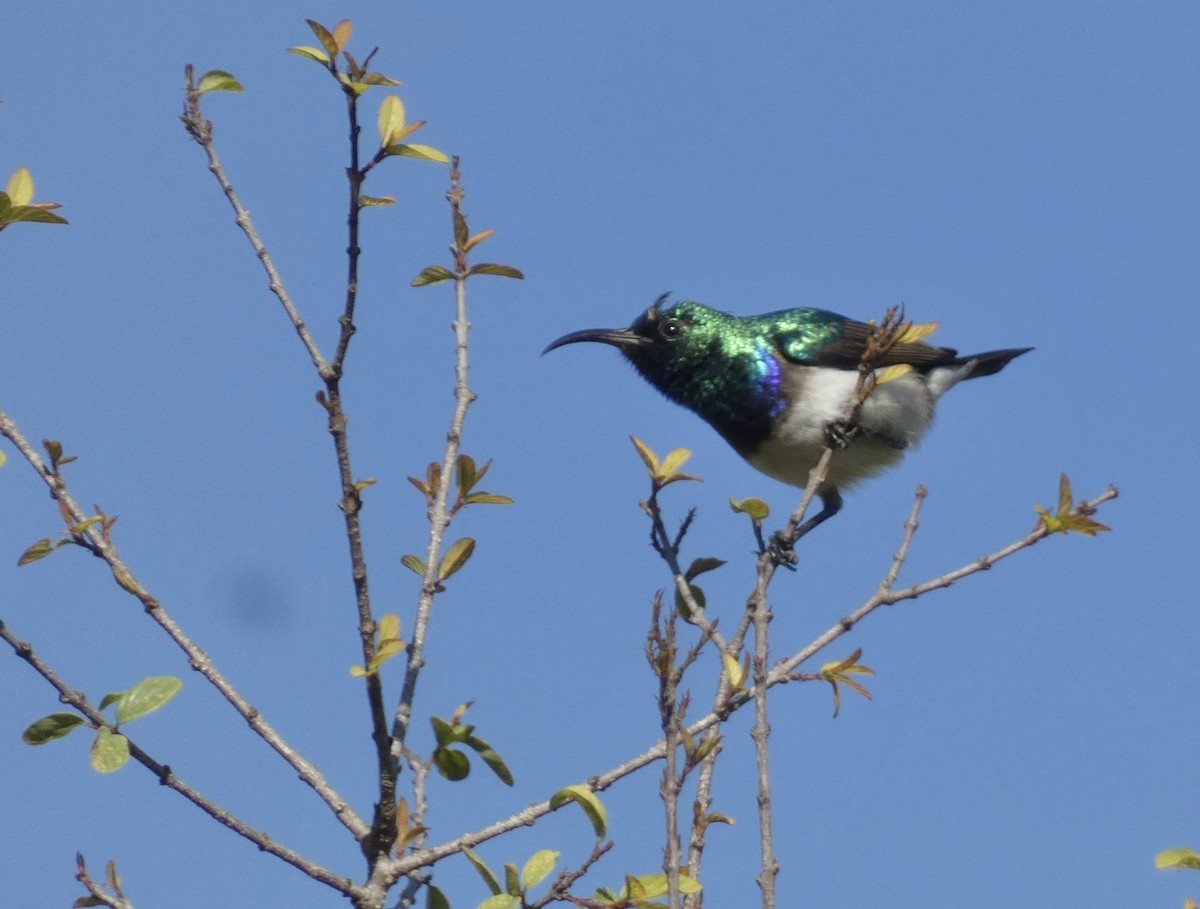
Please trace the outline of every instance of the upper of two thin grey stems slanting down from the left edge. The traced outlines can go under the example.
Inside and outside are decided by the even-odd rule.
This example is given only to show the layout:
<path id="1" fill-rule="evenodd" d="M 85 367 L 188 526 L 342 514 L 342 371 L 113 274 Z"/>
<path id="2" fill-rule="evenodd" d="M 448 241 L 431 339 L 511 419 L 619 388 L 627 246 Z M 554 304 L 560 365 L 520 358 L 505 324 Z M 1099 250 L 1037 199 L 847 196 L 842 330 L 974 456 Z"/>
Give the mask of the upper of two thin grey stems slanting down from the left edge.
<path id="1" fill-rule="evenodd" d="M 22 434 L 17 425 L 5 414 L 0 411 L 0 435 L 5 437 L 11 441 L 17 450 L 20 452 L 22 457 L 29 463 L 31 468 L 37 472 L 42 481 L 49 487 L 50 496 L 59 502 L 64 516 L 68 519 L 70 526 L 78 528 L 84 524 L 88 519 L 88 514 L 79 507 L 79 504 L 74 500 L 67 489 L 66 480 L 58 471 L 50 470 L 50 468 L 42 460 L 41 456 L 29 444 L 29 440 Z M 226 679 L 220 669 L 214 664 L 212 660 L 205 654 L 197 644 L 184 633 L 182 628 L 175 624 L 175 621 L 167 614 L 162 603 L 156 600 L 149 590 L 146 590 L 140 582 L 134 577 L 133 572 L 121 559 L 120 554 L 116 552 L 116 547 L 109 540 L 107 532 L 102 530 L 98 524 L 90 524 L 76 535 L 80 544 L 85 546 L 94 555 L 103 560 L 108 565 L 109 570 L 113 572 L 113 577 L 116 583 L 134 596 L 142 607 L 145 609 L 146 614 L 157 625 L 167 632 L 167 636 L 179 646 L 180 650 L 187 656 L 191 667 L 203 675 L 211 685 L 215 687 L 222 697 L 233 706 L 235 711 L 250 724 L 250 728 L 254 730 L 271 748 L 283 758 L 293 770 L 300 776 L 300 778 L 307 783 L 314 793 L 324 801 L 334 812 L 334 814 L 342 821 L 342 824 L 352 832 L 356 838 L 362 838 L 367 832 L 367 825 L 364 820 L 354 812 L 349 802 L 347 802 L 334 787 L 325 779 L 324 775 L 308 760 L 300 756 L 295 748 L 293 748 L 275 728 L 263 718 L 263 715 L 254 708 L 250 702 L 242 697 L 233 684 Z"/>

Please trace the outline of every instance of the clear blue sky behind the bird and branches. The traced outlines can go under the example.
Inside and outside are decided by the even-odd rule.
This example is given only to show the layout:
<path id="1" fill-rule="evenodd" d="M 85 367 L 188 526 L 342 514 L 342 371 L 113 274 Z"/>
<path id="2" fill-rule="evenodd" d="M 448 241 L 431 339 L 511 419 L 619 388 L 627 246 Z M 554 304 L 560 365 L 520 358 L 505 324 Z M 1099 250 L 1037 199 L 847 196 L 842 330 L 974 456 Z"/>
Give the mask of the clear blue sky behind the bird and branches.
<path id="1" fill-rule="evenodd" d="M 76 494 L 120 514 L 121 552 L 278 728 L 370 807 L 371 754 L 336 474 L 304 351 L 265 290 L 200 151 L 178 121 L 182 66 L 233 71 L 210 97 L 221 153 L 328 348 L 343 281 L 344 116 L 304 16 L 353 18 L 404 80 L 421 139 L 463 156 L 473 227 L 523 283 L 472 287 L 466 451 L 494 458 L 511 508 L 466 513 L 479 538 L 434 616 L 419 729 L 473 699 L 517 776 L 431 794 L 434 841 L 602 771 L 656 738 L 642 657 L 668 584 L 647 546 L 626 437 L 686 446 L 703 484 L 666 496 L 698 519 L 686 555 L 730 560 L 704 585 L 734 615 L 751 540 L 728 495 L 782 514 L 798 492 L 756 475 L 607 349 L 540 359 L 575 329 L 628 324 L 672 290 L 755 313 L 877 318 L 905 302 L 965 351 L 1033 345 L 943 402 L 906 463 L 852 493 L 773 588 L 780 655 L 874 589 L 918 483 L 914 582 L 1026 532 L 1058 474 L 1121 498 L 1097 540 L 1056 538 L 948 591 L 876 614 L 835 648 L 878 675 L 830 720 L 827 690 L 774 700 L 784 905 L 1177 905 L 1200 877 L 1154 872 L 1200 845 L 1195 763 L 1198 538 L 1192 315 L 1200 287 L 1200 11 L 1164 2 L 26 5 L 5 17 L 0 171 L 32 169 L 68 228 L 0 242 L 0 407 L 79 460 Z M 368 96 L 370 98 L 370 96 Z M 366 102 L 367 136 L 382 95 Z M 445 171 L 389 162 L 367 192 L 360 332 L 347 380 L 380 609 L 409 627 L 424 508 L 404 481 L 449 419 L 450 295 L 408 281 L 444 261 Z M 13 452 L 8 451 L 10 456 Z M 102 566 L 62 552 L 17 570 L 55 512 L 16 458 L 0 471 L 0 618 L 90 694 L 178 674 L 136 739 L 250 823 L 349 874 L 344 831 L 250 736 Z M 6 561 L 5 561 L 6 560 Z M 1189 592 L 1193 591 L 1193 592 Z M 697 670 L 697 704 L 718 672 Z M 388 676 L 398 691 L 400 670 Z M 703 680 L 703 682 L 702 682 Z M 49 690 L 0 658 L 0 902 L 66 905 L 76 850 L 116 859 L 138 905 L 337 905 L 136 767 L 98 777 L 85 739 L 19 733 Z M 751 905 L 748 718 L 728 729 L 712 905 Z M 589 878 L 660 861 L 656 771 L 605 794 L 617 850 Z M 482 847 L 578 861 L 556 815 Z M 718 873 L 718 869 L 719 873 Z M 464 861 L 454 904 L 485 892 Z"/>

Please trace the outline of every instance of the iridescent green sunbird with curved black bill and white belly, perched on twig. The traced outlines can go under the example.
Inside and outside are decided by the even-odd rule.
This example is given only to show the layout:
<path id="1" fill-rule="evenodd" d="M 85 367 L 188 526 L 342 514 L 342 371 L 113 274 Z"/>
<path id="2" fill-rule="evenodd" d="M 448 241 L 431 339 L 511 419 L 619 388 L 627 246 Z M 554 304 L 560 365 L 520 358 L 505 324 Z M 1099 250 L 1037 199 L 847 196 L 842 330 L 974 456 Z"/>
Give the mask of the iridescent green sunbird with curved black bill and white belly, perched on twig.
<path id="1" fill-rule="evenodd" d="M 647 381 L 694 410 L 767 476 L 805 487 L 826 446 L 838 451 L 817 489 L 811 530 L 841 508 L 840 489 L 900 460 L 929 429 L 937 399 L 964 379 L 992 375 L 1032 348 L 959 356 L 923 342 L 895 344 L 874 363 L 912 371 L 881 383 L 857 420 L 844 422 L 872 326 L 826 309 L 731 315 L 667 295 L 628 329 L 588 329 L 564 344 L 612 344 Z"/>

